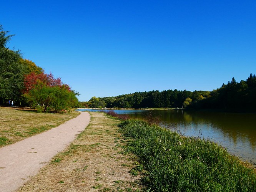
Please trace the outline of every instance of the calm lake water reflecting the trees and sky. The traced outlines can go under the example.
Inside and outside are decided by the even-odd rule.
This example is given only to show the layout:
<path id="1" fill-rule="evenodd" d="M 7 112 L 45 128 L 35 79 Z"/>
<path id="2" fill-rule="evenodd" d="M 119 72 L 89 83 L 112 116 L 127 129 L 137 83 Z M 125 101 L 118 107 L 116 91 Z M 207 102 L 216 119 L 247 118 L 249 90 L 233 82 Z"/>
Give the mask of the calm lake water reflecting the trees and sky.
<path id="1" fill-rule="evenodd" d="M 149 110 L 114 111 L 143 118 Z M 151 113 L 160 118 L 161 126 L 186 136 L 209 138 L 226 147 L 229 153 L 256 166 L 256 114 L 185 110 L 151 110 Z"/>

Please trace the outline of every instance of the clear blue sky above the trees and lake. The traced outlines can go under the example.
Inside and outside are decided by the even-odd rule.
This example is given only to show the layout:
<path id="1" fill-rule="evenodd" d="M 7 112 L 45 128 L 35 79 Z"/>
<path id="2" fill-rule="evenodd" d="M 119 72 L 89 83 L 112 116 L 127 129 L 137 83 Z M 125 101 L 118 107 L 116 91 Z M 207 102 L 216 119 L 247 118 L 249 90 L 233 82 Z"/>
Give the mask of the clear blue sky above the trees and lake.
<path id="1" fill-rule="evenodd" d="M 80 101 L 256 74 L 255 0 L 3 1 L 0 24 Z"/>

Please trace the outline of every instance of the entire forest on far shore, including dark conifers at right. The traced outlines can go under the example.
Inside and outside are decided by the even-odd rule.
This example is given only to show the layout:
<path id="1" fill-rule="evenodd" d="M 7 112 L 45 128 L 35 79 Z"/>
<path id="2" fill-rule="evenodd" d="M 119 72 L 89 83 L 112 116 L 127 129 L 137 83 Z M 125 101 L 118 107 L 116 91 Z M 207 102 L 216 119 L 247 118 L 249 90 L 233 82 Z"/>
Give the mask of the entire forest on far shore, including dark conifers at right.
<path id="1" fill-rule="evenodd" d="M 256 76 L 237 82 L 234 77 L 213 91 L 145 91 L 114 97 L 92 97 L 81 108 L 193 108 L 256 111 Z"/>

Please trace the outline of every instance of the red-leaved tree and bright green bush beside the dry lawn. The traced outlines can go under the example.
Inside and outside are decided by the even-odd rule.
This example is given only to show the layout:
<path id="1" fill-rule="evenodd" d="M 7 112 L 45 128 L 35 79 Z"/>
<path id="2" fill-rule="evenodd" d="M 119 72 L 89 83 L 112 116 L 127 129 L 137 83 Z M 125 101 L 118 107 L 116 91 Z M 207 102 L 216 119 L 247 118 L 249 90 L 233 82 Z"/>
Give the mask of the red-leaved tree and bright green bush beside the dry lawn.
<path id="1" fill-rule="evenodd" d="M 40 70 L 39 70 L 40 72 Z M 75 91 L 60 78 L 55 79 L 53 74 L 37 73 L 32 71 L 25 75 L 23 96 L 32 108 L 38 112 L 61 112 L 78 104 Z"/>

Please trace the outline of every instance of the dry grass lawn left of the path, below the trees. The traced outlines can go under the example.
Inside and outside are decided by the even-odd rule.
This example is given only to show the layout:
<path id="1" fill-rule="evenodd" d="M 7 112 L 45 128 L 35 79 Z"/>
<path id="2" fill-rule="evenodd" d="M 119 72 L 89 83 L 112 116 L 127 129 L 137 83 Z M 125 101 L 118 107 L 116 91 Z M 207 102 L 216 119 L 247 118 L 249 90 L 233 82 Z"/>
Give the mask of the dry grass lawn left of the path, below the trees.
<path id="1" fill-rule="evenodd" d="M 0 107 L 0 147 L 57 127 L 80 113 L 37 113 L 28 108 Z"/>

